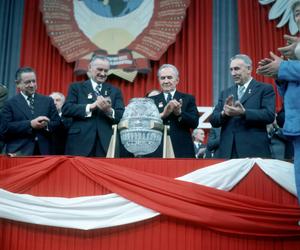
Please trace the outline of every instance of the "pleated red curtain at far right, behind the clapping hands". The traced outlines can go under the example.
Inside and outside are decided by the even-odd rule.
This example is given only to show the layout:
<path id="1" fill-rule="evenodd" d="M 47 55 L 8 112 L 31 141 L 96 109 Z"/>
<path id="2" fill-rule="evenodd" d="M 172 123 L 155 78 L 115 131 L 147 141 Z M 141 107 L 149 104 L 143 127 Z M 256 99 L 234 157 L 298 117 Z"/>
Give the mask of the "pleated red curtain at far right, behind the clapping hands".
<path id="1" fill-rule="evenodd" d="M 269 52 L 273 51 L 277 55 L 277 48 L 285 44 L 284 34 L 289 34 L 288 26 L 276 28 L 280 19 L 270 21 L 268 19 L 269 11 L 272 5 L 260 5 L 258 1 L 239 0 L 238 17 L 240 33 L 240 51 L 241 53 L 251 55 L 254 65 L 254 73 L 257 63 L 265 57 L 269 57 Z M 272 83 L 272 78 L 255 75 L 259 81 Z M 275 87 L 277 92 L 277 89 Z M 280 108 L 281 98 L 277 93 L 277 107 Z"/>

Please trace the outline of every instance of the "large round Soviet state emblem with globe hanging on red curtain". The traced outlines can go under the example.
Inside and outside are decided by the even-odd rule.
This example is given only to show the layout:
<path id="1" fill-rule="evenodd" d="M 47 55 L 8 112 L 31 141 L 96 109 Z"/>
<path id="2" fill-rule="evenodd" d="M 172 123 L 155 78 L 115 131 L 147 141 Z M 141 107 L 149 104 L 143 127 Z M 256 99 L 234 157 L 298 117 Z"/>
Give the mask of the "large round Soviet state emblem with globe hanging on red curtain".
<path id="1" fill-rule="evenodd" d="M 175 42 L 189 0 L 41 0 L 52 44 L 75 72 L 93 54 L 108 56 L 110 74 L 133 81 Z"/>

